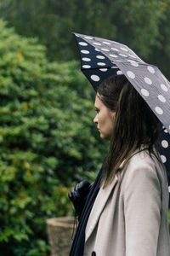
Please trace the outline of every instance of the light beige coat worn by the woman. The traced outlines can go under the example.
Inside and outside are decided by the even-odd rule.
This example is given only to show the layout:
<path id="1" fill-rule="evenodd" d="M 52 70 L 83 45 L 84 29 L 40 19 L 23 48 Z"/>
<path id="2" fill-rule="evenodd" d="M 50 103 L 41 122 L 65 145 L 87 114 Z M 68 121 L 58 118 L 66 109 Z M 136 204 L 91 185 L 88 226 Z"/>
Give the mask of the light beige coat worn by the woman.
<path id="1" fill-rule="evenodd" d="M 99 189 L 88 218 L 84 256 L 170 256 L 165 167 L 142 151 L 124 171 L 121 185 L 116 176 Z"/>

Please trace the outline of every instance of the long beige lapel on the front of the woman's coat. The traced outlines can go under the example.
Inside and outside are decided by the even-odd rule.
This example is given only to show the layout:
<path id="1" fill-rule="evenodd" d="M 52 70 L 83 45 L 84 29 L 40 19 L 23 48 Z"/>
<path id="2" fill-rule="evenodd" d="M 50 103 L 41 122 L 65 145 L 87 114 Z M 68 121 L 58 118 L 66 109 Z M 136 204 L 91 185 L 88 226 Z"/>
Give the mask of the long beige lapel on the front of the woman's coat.
<path id="1" fill-rule="evenodd" d="M 111 185 L 107 186 L 105 189 L 102 189 L 102 188 L 99 189 L 99 193 L 96 197 L 96 200 L 94 201 L 94 207 L 92 208 L 92 211 L 88 218 L 85 241 L 87 241 L 88 238 L 91 236 L 96 224 L 99 221 L 99 216 L 103 211 L 105 204 L 109 199 L 109 196 L 111 195 L 111 191 L 115 188 L 117 182 L 118 182 L 118 177 L 116 175 Z"/>

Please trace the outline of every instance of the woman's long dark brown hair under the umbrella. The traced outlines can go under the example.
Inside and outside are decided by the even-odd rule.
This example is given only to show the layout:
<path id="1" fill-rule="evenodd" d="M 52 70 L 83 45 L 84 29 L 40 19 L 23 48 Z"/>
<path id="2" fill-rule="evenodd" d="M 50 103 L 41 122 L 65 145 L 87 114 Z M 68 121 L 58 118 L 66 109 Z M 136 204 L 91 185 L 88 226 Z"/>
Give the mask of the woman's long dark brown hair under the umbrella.
<path id="1" fill-rule="evenodd" d="M 124 75 L 106 79 L 99 85 L 97 93 L 107 108 L 116 111 L 102 180 L 105 187 L 119 172 L 122 161 L 125 166 L 134 151 L 144 145 L 150 155 L 154 154 L 153 148 L 162 125 Z"/>

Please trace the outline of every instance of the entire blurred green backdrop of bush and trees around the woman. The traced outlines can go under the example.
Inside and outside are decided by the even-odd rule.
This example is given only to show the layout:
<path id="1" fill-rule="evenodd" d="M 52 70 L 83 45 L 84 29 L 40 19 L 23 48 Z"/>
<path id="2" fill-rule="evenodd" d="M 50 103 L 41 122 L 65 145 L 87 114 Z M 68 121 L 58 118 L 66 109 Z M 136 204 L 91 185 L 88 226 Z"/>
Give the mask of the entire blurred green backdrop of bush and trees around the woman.
<path id="1" fill-rule="evenodd" d="M 170 0 L 0 0 L 0 255 L 49 255 L 45 220 L 73 214 L 71 186 L 107 153 L 71 32 L 127 44 L 170 79 L 169 15 Z"/>

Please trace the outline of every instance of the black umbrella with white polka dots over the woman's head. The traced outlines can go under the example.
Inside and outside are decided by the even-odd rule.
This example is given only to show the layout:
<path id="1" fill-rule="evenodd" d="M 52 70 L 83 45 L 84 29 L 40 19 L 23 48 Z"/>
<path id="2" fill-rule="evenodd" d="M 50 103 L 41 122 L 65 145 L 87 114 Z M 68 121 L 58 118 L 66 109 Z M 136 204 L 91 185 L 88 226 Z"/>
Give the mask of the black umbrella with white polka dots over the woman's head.
<path id="1" fill-rule="evenodd" d="M 110 76 L 124 74 L 160 119 L 164 131 L 157 144 L 161 160 L 167 168 L 170 191 L 170 83 L 158 67 L 145 63 L 126 45 L 73 34 L 80 51 L 82 73 L 94 90 Z"/>

